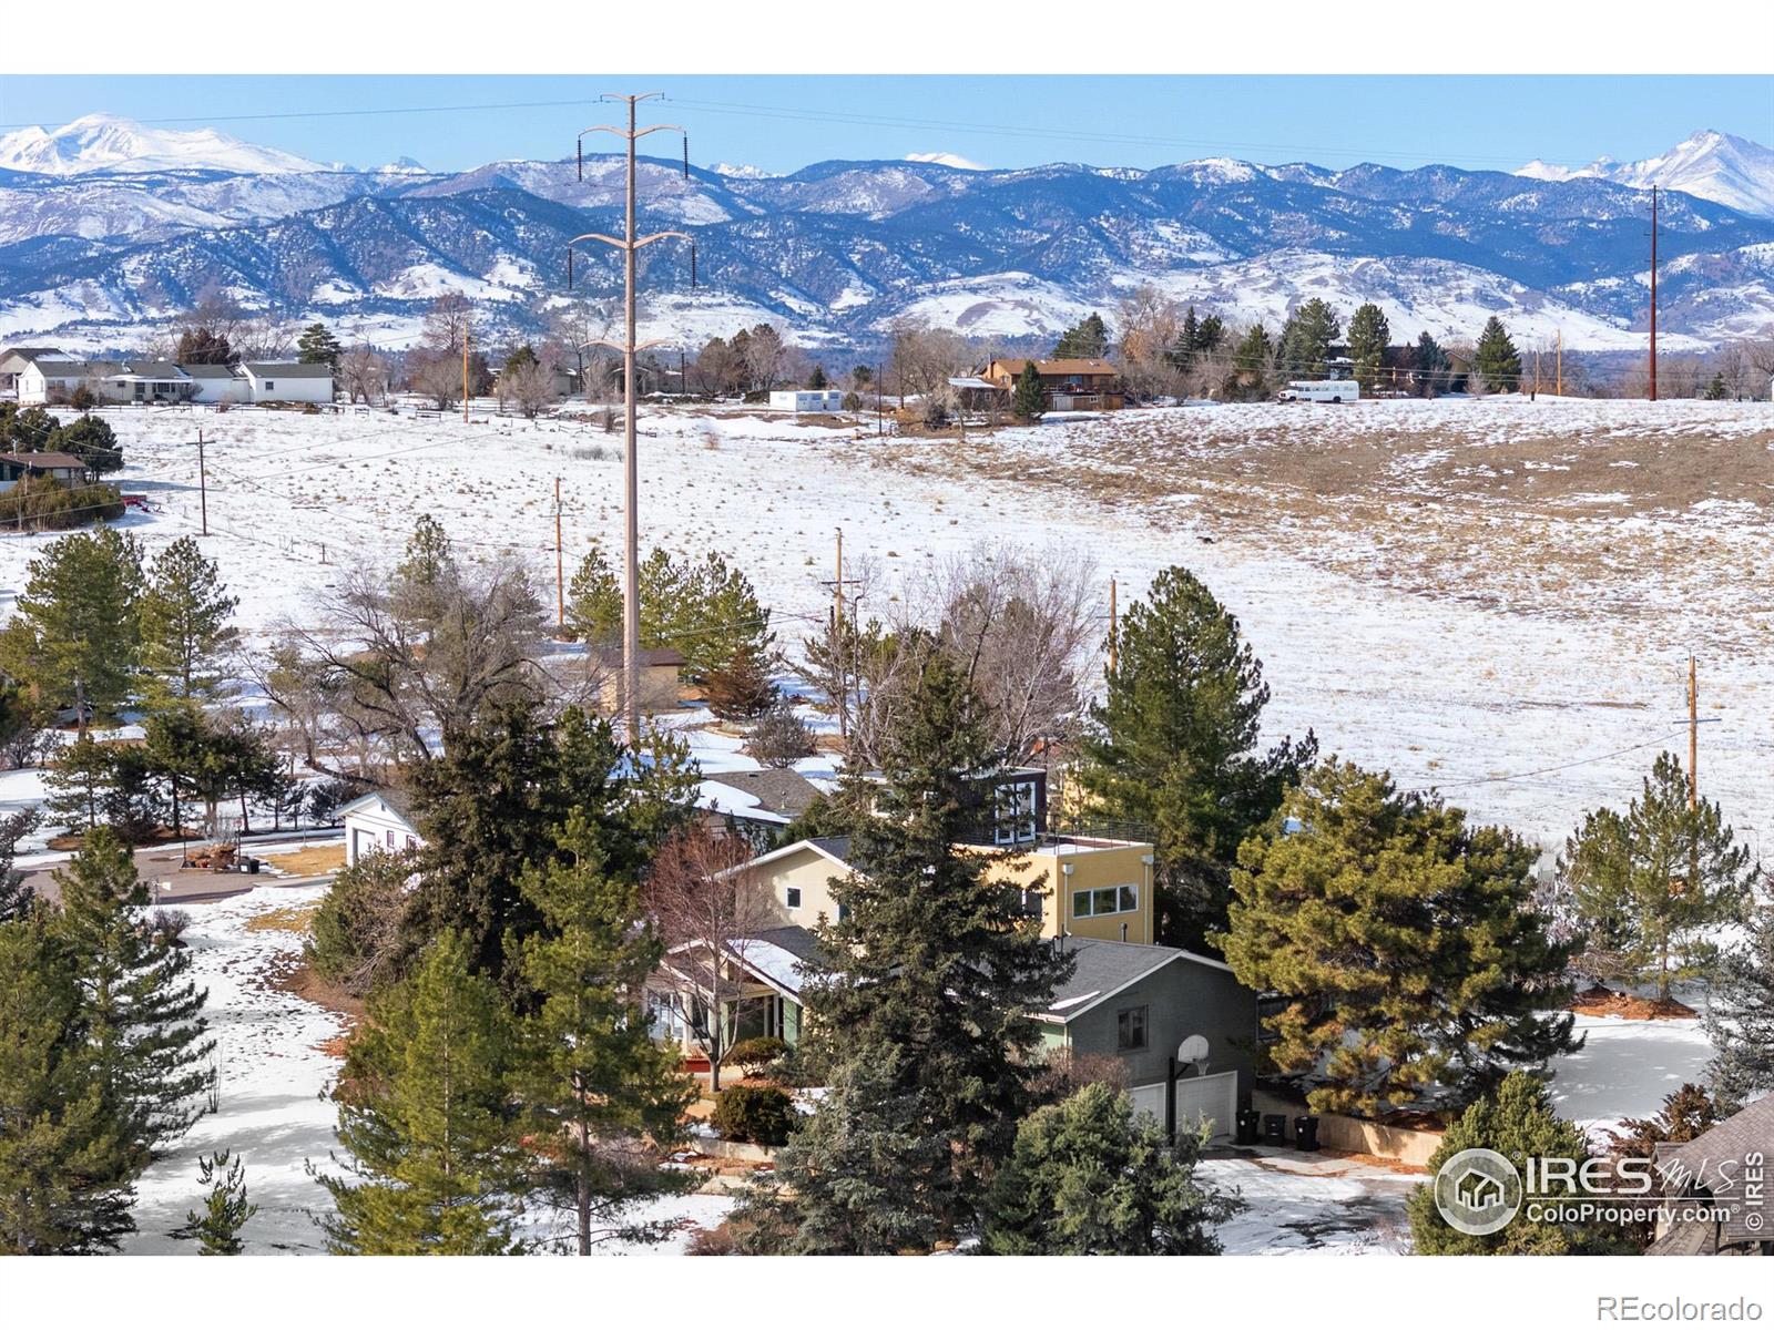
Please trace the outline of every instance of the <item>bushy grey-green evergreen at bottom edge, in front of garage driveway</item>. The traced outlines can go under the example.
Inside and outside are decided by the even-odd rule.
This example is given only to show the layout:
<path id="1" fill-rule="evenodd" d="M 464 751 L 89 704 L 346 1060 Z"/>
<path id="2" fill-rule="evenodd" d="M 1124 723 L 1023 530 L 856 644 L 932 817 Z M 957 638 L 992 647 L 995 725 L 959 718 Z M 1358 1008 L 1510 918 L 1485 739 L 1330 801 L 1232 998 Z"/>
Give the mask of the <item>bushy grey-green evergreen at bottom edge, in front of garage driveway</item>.
<path id="1" fill-rule="evenodd" d="M 995 1256 L 1213 1256 L 1238 1202 L 1196 1176 L 1199 1142 L 1171 1146 L 1125 1091 L 1095 1084 L 1038 1108 L 992 1181 Z"/>

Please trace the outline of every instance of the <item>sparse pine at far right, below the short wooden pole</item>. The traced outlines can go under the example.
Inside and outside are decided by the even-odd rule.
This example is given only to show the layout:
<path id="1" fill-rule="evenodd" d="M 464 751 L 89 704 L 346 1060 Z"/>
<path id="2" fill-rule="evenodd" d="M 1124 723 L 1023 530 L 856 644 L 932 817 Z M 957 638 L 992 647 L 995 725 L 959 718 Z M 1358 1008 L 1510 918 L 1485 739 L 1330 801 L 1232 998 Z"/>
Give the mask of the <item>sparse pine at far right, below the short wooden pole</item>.
<path id="1" fill-rule="evenodd" d="M 1565 842 L 1559 872 L 1588 933 L 1584 965 L 1602 979 L 1671 982 L 1717 959 L 1710 933 L 1739 917 L 1754 869 L 1717 803 L 1689 805 L 1687 777 L 1660 754 L 1625 814 L 1598 809 Z"/>

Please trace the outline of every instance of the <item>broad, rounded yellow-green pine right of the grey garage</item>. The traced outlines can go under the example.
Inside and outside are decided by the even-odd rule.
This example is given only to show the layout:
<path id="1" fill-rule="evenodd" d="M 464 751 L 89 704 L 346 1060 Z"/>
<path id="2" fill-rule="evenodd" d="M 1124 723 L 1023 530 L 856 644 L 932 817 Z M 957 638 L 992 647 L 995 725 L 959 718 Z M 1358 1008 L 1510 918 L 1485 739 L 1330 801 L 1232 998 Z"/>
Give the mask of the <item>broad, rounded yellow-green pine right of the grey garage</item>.
<path id="1" fill-rule="evenodd" d="M 1238 981 L 1288 998 L 1270 1057 L 1315 1112 L 1469 1103 L 1574 1052 L 1572 943 L 1533 910 L 1536 851 L 1460 809 L 1325 763 L 1238 851 L 1222 938 Z"/>

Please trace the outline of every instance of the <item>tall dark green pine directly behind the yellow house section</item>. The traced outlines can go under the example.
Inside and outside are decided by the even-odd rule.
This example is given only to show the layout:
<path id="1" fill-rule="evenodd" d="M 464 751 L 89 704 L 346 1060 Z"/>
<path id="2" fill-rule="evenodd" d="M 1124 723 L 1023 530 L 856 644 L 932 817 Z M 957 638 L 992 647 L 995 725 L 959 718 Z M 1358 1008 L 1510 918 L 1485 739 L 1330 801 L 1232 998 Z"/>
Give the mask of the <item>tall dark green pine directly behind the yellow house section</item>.
<path id="1" fill-rule="evenodd" d="M 1116 669 L 1091 706 L 1079 778 L 1093 810 L 1150 828 L 1158 931 L 1199 945 L 1226 919 L 1238 844 L 1261 826 L 1318 741 L 1256 750 L 1268 685 L 1238 621 L 1167 567 L 1116 630 Z"/>

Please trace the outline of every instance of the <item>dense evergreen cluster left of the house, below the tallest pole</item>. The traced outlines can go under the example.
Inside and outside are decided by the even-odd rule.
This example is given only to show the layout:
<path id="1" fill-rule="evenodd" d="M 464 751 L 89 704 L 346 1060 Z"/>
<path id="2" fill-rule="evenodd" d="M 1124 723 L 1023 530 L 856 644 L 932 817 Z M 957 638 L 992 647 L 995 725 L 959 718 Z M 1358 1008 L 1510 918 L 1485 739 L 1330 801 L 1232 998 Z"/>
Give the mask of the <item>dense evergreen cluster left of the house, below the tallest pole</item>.
<path id="1" fill-rule="evenodd" d="M 679 747 L 502 708 L 422 773 L 424 848 L 335 880 L 314 956 L 369 991 L 369 1021 L 335 1096 L 344 1153 L 316 1169 L 332 1250 L 514 1252 L 532 1211 L 580 1254 L 669 1234 L 633 1209 L 687 1185 L 658 1153 L 692 1089 L 642 1004 L 663 945 L 639 888 L 694 789 Z"/>

